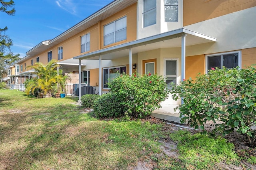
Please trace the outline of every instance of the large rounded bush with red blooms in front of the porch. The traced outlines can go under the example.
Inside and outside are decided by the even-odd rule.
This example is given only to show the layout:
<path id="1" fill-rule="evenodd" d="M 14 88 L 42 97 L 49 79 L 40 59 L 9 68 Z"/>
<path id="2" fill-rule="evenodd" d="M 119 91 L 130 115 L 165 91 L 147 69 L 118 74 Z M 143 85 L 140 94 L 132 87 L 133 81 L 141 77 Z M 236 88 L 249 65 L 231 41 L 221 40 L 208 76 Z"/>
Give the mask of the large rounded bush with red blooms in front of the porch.
<path id="1" fill-rule="evenodd" d="M 162 76 L 122 74 L 108 83 L 110 92 L 116 94 L 116 100 L 124 105 L 127 117 L 146 117 L 154 109 L 160 108 L 160 102 L 169 94 Z"/>

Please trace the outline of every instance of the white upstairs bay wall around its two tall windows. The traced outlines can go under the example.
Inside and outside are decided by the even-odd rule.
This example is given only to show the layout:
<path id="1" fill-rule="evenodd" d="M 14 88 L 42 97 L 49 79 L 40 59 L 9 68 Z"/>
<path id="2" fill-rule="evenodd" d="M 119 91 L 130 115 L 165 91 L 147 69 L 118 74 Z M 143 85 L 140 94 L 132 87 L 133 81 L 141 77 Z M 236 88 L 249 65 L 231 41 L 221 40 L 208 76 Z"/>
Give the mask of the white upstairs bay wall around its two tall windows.
<path id="1" fill-rule="evenodd" d="M 178 22 L 164 21 L 164 1 L 156 0 L 156 24 L 143 27 L 143 1 L 138 1 L 138 39 L 183 27 L 183 0 L 178 0 Z"/>

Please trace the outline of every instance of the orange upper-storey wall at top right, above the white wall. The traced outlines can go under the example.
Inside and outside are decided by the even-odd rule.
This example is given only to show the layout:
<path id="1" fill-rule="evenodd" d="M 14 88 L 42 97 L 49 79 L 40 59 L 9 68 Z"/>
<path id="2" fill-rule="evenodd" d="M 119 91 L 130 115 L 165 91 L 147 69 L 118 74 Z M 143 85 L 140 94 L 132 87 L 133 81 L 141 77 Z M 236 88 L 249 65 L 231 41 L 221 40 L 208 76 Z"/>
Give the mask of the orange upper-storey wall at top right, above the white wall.
<path id="1" fill-rule="evenodd" d="M 256 6 L 256 0 L 184 0 L 183 25 L 188 26 Z"/>

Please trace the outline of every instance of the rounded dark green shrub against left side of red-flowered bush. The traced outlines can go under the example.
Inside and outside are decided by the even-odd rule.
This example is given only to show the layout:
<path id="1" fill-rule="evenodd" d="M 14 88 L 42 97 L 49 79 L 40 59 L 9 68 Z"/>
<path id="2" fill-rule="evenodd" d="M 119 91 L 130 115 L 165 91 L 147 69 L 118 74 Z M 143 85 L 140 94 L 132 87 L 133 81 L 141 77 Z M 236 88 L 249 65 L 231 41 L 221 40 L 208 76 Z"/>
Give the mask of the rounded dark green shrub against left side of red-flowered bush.
<path id="1" fill-rule="evenodd" d="M 94 101 L 94 114 L 96 117 L 121 117 L 123 115 L 123 105 L 120 104 L 115 93 L 104 94 Z"/>

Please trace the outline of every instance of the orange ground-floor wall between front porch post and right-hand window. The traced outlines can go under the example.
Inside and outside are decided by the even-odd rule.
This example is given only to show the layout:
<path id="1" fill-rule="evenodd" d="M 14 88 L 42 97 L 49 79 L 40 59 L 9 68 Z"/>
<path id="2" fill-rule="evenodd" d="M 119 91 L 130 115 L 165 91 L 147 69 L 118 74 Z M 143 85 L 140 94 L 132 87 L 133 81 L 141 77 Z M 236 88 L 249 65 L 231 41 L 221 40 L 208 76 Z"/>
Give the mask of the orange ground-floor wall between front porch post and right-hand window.
<path id="1" fill-rule="evenodd" d="M 205 55 L 186 57 L 186 79 L 195 79 L 198 73 L 205 74 Z"/>

